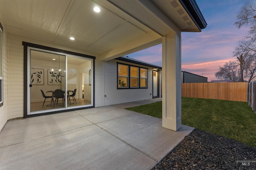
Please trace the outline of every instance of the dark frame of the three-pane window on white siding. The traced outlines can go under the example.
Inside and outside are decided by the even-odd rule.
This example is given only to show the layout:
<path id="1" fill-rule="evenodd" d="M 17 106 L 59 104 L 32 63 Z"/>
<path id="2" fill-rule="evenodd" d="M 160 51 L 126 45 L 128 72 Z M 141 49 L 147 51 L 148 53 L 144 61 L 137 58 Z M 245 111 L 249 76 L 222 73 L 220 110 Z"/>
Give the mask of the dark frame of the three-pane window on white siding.
<path id="1" fill-rule="evenodd" d="M 148 68 L 145 68 L 145 67 L 140 67 L 140 66 L 134 66 L 134 65 L 130 65 L 130 64 L 124 64 L 124 63 L 116 63 L 117 64 L 117 89 L 138 89 L 138 88 L 140 88 L 140 89 L 143 89 L 143 88 L 148 88 Z M 119 79 L 118 79 L 118 77 L 119 77 L 119 75 L 118 75 L 118 64 L 121 64 L 121 65 L 126 65 L 126 66 L 128 66 L 128 87 L 119 87 L 118 86 L 118 84 L 119 84 Z M 132 67 L 136 67 L 136 68 L 138 68 L 138 87 L 131 87 L 131 84 L 130 84 L 130 78 L 137 78 L 137 77 L 133 77 L 133 76 L 131 76 L 130 74 L 130 70 L 131 70 L 131 66 Z M 140 68 L 143 68 L 143 69 L 146 69 L 147 70 L 147 78 L 145 78 L 146 79 L 146 83 L 147 83 L 147 86 L 146 87 L 140 87 Z M 124 76 L 123 76 L 124 77 Z"/>

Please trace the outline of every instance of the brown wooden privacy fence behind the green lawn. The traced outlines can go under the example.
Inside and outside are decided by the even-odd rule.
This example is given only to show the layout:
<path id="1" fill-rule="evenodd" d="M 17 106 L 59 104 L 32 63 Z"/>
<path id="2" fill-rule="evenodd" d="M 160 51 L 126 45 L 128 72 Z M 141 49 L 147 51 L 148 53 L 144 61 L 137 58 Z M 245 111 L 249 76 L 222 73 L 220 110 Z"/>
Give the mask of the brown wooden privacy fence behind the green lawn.
<path id="1" fill-rule="evenodd" d="M 182 97 L 247 102 L 247 83 L 182 83 Z"/>

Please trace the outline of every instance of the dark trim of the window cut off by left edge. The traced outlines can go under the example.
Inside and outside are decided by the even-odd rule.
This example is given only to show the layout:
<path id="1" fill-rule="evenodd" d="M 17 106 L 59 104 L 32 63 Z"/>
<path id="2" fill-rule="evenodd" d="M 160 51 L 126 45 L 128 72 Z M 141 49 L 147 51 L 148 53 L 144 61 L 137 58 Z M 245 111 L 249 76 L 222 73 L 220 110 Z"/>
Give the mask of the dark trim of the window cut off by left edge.
<path id="1" fill-rule="evenodd" d="M 4 105 L 4 28 L 2 26 L 2 23 L 0 22 L 0 33 L 1 33 L 1 72 L 2 74 L 0 75 L 0 107 Z"/>

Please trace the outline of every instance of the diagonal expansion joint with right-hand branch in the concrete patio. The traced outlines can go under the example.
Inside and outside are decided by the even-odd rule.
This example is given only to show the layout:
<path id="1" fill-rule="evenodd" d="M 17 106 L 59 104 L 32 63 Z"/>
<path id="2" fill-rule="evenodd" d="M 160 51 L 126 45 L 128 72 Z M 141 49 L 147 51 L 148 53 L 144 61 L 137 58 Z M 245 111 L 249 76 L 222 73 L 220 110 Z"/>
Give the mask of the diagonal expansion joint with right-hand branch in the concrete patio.
<path id="1" fill-rule="evenodd" d="M 75 112 L 75 111 L 74 111 L 74 112 Z M 133 114 L 136 114 L 136 113 L 137 113 L 137 112 L 132 113 L 132 114 L 130 114 L 130 115 L 133 115 Z M 77 113 L 77 114 L 80 115 L 79 113 Z M 87 119 L 86 117 L 84 117 L 84 116 L 82 116 L 82 115 L 80 115 L 80 116 L 83 117 L 84 119 L 90 121 L 90 120 Z M 126 116 L 129 116 L 129 115 L 125 115 L 125 116 L 122 116 L 122 117 L 126 117 Z M 115 119 L 119 119 L 119 118 L 121 118 L 121 117 L 117 117 L 117 118 L 115 118 Z M 110 120 L 114 120 L 114 119 L 110 119 Z M 107 121 L 110 121 L 110 120 L 107 120 Z M 114 135 L 114 134 L 111 133 L 110 131 L 104 129 L 103 127 L 100 127 L 100 125 L 98 125 L 97 123 L 94 123 L 94 122 L 92 122 L 92 121 L 90 121 L 90 122 L 93 123 L 94 125 L 96 125 L 97 127 L 99 127 L 100 129 L 104 130 L 106 133 L 109 133 L 110 135 L 114 136 L 116 139 L 122 141 L 122 142 L 125 143 L 126 145 L 129 145 L 129 146 L 132 147 L 133 149 L 138 150 L 138 151 L 141 152 L 142 154 L 148 156 L 150 159 L 156 161 L 156 164 L 159 162 L 159 160 L 157 160 L 156 158 L 153 158 L 152 156 L 148 155 L 146 152 L 143 152 L 142 150 L 140 150 L 140 149 L 134 147 L 134 146 L 131 145 L 130 143 L 128 143 L 128 142 L 124 141 L 123 139 L 119 138 L 118 136 Z M 102 121 L 102 122 L 106 122 L 106 121 Z M 102 123 L 102 122 L 98 122 L 98 123 Z"/>

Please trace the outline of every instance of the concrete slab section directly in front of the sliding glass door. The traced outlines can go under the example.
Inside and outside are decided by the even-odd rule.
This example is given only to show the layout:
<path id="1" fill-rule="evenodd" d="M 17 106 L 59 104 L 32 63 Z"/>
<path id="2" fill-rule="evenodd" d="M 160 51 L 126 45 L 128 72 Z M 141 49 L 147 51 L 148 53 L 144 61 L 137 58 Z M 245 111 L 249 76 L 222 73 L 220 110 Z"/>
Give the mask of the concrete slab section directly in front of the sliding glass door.
<path id="1" fill-rule="evenodd" d="M 73 111 L 10 120 L 0 131 L 0 148 L 91 124 L 90 121 L 81 119 L 80 115 Z"/>

